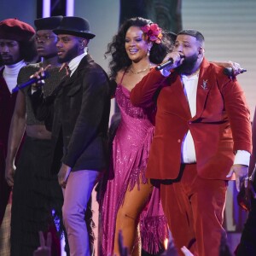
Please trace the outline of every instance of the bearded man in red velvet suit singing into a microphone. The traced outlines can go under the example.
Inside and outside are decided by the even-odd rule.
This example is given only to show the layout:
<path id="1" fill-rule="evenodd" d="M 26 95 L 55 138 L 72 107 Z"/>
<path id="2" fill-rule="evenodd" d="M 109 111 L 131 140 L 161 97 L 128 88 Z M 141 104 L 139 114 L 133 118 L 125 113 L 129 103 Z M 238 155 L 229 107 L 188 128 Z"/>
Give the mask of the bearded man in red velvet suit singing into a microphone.
<path id="1" fill-rule="evenodd" d="M 201 32 L 178 33 L 169 58 L 131 90 L 134 105 L 157 106 L 147 175 L 160 180 L 177 248 L 217 256 L 228 180 L 240 189 L 247 179 L 250 113 L 236 79 L 204 57 Z"/>

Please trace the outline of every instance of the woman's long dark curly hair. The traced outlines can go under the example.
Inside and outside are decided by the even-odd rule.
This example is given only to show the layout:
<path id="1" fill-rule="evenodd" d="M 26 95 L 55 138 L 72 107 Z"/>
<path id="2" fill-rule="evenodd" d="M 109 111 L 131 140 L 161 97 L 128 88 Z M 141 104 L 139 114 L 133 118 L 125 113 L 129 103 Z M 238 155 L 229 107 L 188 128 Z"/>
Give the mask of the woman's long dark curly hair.
<path id="1" fill-rule="evenodd" d="M 142 17 L 135 17 L 125 20 L 122 26 L 120 26 L 119 32 L 113 36 L 113 40 L 108 44 L 108 50 L 105 53 L 106 58 L 108 55 L 111 55 L 112 57 L 111 61 L 109 62 L 109 77 L 111 80 L 116 78 L 116 75 L 120 70 L 131 66 L 131 60 L 129 59 L 125 50 L 125 36 L 127 30 L 131 26 L 141 27 L 151 23 L 154 22 Z M 154 64 L 159 64 L 162 62 L 166 54 L 170 52 L 173 47 L 172 38 L 168 36 L 168 32 L 162 30 L 162 35 L 163 38 L 161 39 L 161 43 L 156 44 L 153 42 L 153 46 L 150 49 L 149 60 Z"/>

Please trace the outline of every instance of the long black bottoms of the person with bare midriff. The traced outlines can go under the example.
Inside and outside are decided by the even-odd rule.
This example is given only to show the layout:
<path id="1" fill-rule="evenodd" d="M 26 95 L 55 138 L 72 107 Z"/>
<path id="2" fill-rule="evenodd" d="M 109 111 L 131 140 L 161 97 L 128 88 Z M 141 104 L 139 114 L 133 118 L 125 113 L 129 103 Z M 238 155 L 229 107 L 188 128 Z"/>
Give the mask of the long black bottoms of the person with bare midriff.
<path id="1" fill-rule="evenodd" d="M 52 155 L 50 140 L 26 137 L 15 171 L 11 212 L 12 256 L 32 256 L 40 245 L 39 230 L 47 232 L 54 224 L 59 224 L 61 233 L 63 196 L 57 176 L 50 172 Z M 55 217 L 52 210 L 55 210 Z M 53 252 L 52 255 L 56 254 Z"/>

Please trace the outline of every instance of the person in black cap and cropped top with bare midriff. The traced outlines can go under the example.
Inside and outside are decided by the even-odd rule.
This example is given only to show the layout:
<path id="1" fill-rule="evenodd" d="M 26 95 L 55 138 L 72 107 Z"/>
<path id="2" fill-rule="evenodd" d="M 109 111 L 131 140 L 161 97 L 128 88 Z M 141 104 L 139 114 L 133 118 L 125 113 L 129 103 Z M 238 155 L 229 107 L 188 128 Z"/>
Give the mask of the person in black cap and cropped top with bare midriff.
<path id="1" fill-rule="evenodd" d="M 56 85 L 66 76 L 64 70 L 60 72 L 56 48 L 57 37 L 52 31 L 60 25 L 61 20 L 62 16 L 34 20 L 36 48 L 42 61 L 22 67 L 18 75 L 18 84 L 26 83 L 40 68 L 48 66 L 49 77 L 42 85 L 45 96 L 55 90 Z M 18 91 L 9 130 L 6 178 L 9 185 L 13 186 L 11 255 L 32 255 L 40 245 L 38 231 L 51 232 L 52 255 L 61 255 L 63 197 L 56 172 L 50 170 L 51 134 L 44 122 L 36 119 L 33 113 L 32 92 L 31 86 Z M 26 138 L 15 166 L 15 155 L 24 132 L 26 132 Z M 55 212 L 54 217 L 52 217 L 52 210 Z M 59 222 L 57 228 L 60 234 L 57 234 L 54 220 Z"/>

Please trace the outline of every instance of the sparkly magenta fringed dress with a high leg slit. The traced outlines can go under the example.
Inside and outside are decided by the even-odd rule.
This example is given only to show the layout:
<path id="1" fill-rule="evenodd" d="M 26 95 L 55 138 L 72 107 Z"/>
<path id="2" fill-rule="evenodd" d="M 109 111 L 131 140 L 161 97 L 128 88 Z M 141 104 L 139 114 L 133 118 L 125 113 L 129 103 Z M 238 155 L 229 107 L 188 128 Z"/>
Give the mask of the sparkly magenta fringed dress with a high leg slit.
<path id="1" fill-rule="evenodd" d="M 100 255 L 113 255 L 115 221 L 125 191 L 137 186 L 139 179 L 148 183 L 145 171 L 148 152 L 154 134 L 154 125 L 149 119 L 151 110 L 131 105 L 130 91 L 118 84 L 115 99 L 119 105 L 121 120 L 113 139 L 111 168 L 106 191 L 100 202 Z M 134 199 L 136 200 L 136 199 Z M 147 206 L 139 218 L 143 250 L 157 253 L 168 236 L 166 218 L 160 204 L 160 191 L 153 189 Z"/>

